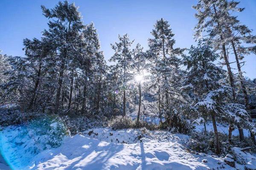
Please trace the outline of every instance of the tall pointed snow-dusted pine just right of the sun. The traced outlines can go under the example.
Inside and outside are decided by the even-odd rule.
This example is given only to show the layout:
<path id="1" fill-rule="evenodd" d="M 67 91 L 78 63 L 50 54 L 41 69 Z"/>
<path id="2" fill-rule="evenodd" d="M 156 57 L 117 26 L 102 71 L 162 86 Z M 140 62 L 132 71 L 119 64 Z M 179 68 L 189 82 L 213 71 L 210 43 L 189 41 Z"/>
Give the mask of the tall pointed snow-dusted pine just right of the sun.
<path id="1" fill-rule="evenodd" d="M 151 61 L 151 81 L 156 83 L 154 87 L 158 96 L 158 108 L 160 117 L 164 113 L 166 118 L 174 113 L 171 105 L 175 91 L 178 91 L 180 77 L 180 59 L 183 49 L 173 48 L 175 40 L 169 23 L 161 18 L 157 20 L 151 34 L 153 38 L 148 40 L 148 56 Z M 162 101 L 162 102 L 161 102 Z"/>

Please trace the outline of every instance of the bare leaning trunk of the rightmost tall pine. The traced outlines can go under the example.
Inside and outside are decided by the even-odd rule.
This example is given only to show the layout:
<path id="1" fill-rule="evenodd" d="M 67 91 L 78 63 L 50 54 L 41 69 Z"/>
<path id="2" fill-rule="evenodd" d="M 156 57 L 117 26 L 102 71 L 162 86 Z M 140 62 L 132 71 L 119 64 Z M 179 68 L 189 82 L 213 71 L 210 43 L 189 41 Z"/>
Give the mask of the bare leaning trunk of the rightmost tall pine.
<path id="1" fill-rule="evenodd" d="M 236 65 L 237 65 L 237 69 L 238 69 L 238 72 L 239 72 L 239 77 L 243 80 L 243 74 L 242 74 L 242 71 L 241 71 L 239 58 L 238 58 L 238 55 L 237 55 L 237 52 L 236 52 L 236 47 L 235 47 L 235 44 L 234 44 L 233 40 L 231 41 L 231 43 L 232 43 L 233 51 L 234 51 L 234 54 L 235 54 L 235 57 L 236 57 Z M 243 91 L 243 94 L 244 94 L 245 107 L 246 107 L 247 112 L 249 112 L 250 105 L 249 105 L 249 98 L 248 98 L 248 95 L 247 95 L 247 91 L 246 91 L 246 88 L 244 86 L 244 82 L 240 81 L 240 83 L 241 83 L 241 88 L 242 88 L 242 91 Z M 250 121 L 252 121 L 252 120 L 250 120 Z M 251 136 L 251 139 L 253 140 L 253 143 L 256 144 L 255 135 L 251 132 L 251 130 L 250 130 L 250 136 Z"/>

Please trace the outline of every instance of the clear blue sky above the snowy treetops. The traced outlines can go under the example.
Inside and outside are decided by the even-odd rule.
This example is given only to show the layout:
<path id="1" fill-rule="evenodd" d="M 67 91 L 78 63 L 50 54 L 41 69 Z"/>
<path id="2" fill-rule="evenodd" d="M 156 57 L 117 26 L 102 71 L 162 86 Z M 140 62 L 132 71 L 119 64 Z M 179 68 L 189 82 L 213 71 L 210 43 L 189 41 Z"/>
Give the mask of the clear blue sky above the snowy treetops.
<path id="1" fill-rule="evenodd" d="M 0 50 L 2 54 L 24 56 L 23 39 L 40 38 L 47 28 L 41 5 L 52 8 L 59 0 L 0 0 Z M 176 47 L 195 45 L 193 28 L 197 0 L 69 0 L 79 6 L 84 24 L 93 22 L 99 33 L 101 47 L 108 60 L 113 54 L 110 44 L 118 34 L 128 33 L 134 44 L 140 42 L 147 49 L 147 40 L 156 20 L 169 21 L 175 33 Z M 241 0 L 239 20 L 256 34 L 256 0 Z M 233 57 L 230 58 L 234 61 Z M 246 76 L 256 78 L 256 56 L 250 55 L 242 68 Z M 236 65 L 233 65 L 236 68 Z"/>

